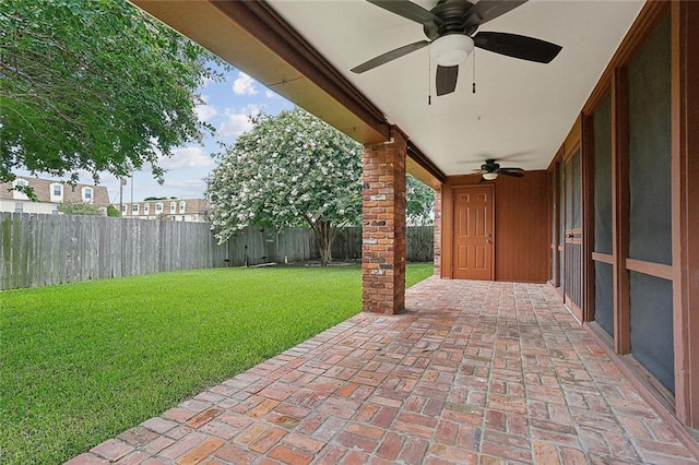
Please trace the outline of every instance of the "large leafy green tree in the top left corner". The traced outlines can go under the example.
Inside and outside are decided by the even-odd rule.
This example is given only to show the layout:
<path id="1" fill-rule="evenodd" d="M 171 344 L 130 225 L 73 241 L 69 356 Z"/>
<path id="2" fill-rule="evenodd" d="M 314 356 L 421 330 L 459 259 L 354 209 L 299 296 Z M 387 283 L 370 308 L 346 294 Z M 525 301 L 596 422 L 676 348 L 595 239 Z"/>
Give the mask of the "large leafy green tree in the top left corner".
<path id="1" fill-rule="evenodd" d="M 2 0 L 0 181 L 17 168 L 126 176 L 200 141 L 212 58 L 123 0 Z"/>

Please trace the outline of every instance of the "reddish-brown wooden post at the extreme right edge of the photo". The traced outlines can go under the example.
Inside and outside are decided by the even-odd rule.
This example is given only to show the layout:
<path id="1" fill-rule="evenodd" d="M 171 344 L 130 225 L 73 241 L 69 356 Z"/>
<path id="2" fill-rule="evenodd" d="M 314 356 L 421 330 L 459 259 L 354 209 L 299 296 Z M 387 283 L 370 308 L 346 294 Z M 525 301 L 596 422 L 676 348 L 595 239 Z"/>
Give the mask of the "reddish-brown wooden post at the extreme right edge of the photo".
<path id="1" fill-rule="evenodd" d="M 699 428 L 699 2 L 671 14 L 675 408 Z"/>

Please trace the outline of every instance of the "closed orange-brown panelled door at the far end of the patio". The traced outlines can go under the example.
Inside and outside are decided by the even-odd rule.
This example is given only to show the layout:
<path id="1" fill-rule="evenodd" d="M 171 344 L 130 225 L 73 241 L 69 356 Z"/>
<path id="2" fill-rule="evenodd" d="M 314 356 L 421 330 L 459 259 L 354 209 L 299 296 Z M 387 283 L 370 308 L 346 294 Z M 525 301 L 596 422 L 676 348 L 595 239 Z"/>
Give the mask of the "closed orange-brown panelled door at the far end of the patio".
<path id="1" fill-rule="evenodd" d="M 454 188 L 453 277 L 493 279 L 493 186 Z"/>

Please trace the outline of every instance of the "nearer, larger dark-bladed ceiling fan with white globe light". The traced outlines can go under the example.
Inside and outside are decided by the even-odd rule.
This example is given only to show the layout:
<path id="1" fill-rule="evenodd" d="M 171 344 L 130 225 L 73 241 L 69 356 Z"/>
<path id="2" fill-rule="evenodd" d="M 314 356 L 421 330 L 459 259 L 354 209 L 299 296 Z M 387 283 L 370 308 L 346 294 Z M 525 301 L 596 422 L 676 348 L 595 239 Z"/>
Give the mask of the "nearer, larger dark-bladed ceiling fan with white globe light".
<path id="1" fill-rule="evenodd" d="M 508 57 L 548 63 L 561 47 L 534 37 L 508 33 L 483 32 L 474 35 L 478 26 L 524 3 L 526 0 L 439 0 L 431 10 L 408 0 L 367 0 L 391 13 L 423 25 L 429 40 L 387 51 L 351 71 L 357 74 L 429 46 L 429 55 L 437 62 L 437 95 L 446 95 L 457 88 L 459 64 L 474 47 Z"/>

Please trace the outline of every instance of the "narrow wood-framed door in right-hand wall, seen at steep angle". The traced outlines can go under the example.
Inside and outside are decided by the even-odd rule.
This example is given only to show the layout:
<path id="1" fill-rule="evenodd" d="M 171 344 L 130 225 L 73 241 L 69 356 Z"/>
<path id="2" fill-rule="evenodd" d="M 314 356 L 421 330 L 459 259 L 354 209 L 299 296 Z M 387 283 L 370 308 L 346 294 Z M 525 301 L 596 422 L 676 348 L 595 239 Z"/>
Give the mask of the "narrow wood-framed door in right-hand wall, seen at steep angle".
<path id="1" fill-rule="evenodd" d="M 582 321 L 582 166 L 580 148 L 564 163 L 564 301 Z"/>

